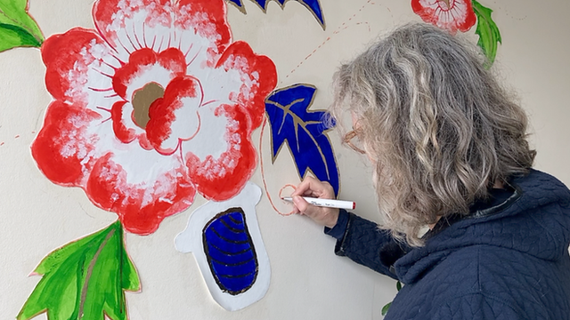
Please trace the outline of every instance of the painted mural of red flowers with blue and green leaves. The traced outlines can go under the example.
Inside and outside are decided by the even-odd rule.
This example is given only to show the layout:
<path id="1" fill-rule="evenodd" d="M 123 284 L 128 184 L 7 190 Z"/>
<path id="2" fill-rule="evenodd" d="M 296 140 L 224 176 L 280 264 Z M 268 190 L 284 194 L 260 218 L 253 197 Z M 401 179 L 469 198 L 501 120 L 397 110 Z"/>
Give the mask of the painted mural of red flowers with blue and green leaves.
<path id="1" fill-rule="evenodd" d="M 245 13 L 243 0 L 226 1 Z M 271 0 L 252 2 L 265 12 Z M 297 2 L 324 30 L 320 2 Z M 476 24 L 493 63 L 501 34 L 491 9 L 476 0 L 411 0 L 411 9 L 451 33 Z M 327 135 L 335 121 L 310 109 L 316 88 L 275 89 L 273 61 L 232 41 L 224 0 L 97 0 L 92 14 L 94 29 L 45 39 L 27 0 L 0 0 L 0 52 L 40 48 L 53 97 L 31 146 L 37 167 L 118 215 L 40 262 L 42 278 L 17 318 L 126 319 L 125 292 L 141 291 L 141 280 L 124 232 L 151 235 L 197 194 L 209 202 L 192 212 L 176 249 L 193 253 L 223 308 L 262 299 L 271 268 L 256 220 L 263 191 L 248 181 L 259 161 L 251 134 L 261 126 L 262 139 L 268 124 L 273 162 L 287 146 L 300 179 L 311 172 L 338 195 Z M 261 172 L 265 186 L 263 164 Z M 265 194 L 273 204 L 266 186 Z"/>

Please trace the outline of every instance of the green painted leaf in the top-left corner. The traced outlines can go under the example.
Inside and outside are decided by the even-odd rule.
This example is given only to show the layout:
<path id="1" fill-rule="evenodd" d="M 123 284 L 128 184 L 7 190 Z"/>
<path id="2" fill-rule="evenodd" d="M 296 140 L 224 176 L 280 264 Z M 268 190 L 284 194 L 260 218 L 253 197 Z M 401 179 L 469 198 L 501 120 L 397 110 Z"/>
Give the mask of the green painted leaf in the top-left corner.
<path id="1" fill-rule="evenodd" d="M 0 52 L 19 46 L 39 47 L 42 31 L 28 15 L 27 0 L 0 0 Z"/>

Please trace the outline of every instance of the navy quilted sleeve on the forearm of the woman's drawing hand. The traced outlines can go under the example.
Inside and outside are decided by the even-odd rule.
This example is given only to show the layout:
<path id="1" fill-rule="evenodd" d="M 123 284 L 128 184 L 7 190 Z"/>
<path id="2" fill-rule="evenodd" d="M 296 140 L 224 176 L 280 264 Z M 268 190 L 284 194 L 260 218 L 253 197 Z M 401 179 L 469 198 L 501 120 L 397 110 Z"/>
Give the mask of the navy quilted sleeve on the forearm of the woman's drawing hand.
<path id="1" fill-rule="evenodd" d="M 387 230 L 349 213 L 345 234 L 337 241 L 335 253 L 397 280 L 391 267 L 405 251 Z"/>

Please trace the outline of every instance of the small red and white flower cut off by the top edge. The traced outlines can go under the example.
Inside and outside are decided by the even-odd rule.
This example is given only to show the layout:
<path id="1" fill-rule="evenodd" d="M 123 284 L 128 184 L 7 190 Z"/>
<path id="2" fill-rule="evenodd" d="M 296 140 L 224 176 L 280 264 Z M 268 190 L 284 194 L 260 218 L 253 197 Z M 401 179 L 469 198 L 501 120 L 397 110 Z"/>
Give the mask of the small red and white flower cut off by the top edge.
<path id="1" fill-rule="evenodd" d="M 473 27 L 476 15 L 471 0 L 411 0 L 411 9 L 422 20 L 455 34 Z"/>

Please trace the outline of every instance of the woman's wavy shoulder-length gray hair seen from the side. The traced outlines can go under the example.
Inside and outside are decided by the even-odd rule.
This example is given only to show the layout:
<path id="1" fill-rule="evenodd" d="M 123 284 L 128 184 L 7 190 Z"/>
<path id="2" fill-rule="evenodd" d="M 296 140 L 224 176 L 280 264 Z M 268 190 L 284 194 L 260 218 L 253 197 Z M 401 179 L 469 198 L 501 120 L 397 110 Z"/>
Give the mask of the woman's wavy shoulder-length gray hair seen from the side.
<path id="1" fill-rule="evenodd" d="M 423 245 L 421 228 L 525 175 L 525 112 L 470 44 L 424 23 L 396 28 L 334 76 L 332 116 L 349 110 L 371 158 L 380 228 Z M 341 132 L 345 130 L 341 127 Z"/>

